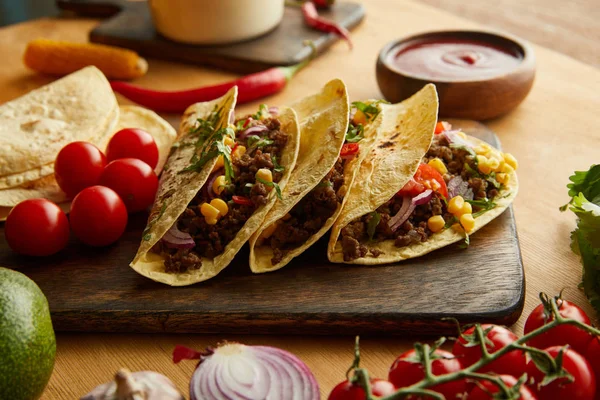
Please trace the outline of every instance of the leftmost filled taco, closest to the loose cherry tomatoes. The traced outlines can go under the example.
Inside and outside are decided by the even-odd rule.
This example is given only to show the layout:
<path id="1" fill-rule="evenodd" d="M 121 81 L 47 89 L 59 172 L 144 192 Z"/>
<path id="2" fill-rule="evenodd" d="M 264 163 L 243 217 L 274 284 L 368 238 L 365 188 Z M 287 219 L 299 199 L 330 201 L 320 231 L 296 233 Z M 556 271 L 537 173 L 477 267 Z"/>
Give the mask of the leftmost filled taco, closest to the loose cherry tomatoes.
<path id="1" fill-rule="evenodd" d="M 261 105 L 234 120 L 236 95 L 186 110 L 131 263 L 140 274 L 173 286 L 214 277 L 282 198 L 298 156 L 296 113 Z"/>

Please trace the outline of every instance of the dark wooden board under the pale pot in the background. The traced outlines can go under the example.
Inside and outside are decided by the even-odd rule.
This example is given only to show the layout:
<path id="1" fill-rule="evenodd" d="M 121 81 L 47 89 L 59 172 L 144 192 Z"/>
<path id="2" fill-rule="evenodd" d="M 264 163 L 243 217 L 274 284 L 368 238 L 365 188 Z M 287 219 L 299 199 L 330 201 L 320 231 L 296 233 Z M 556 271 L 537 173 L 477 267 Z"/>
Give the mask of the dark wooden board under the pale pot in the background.
<path id="1" fill-rule="evenodd" d="M 305 40 L 312 40 L 318 53 L 338 40 L 334 34 L 306 26 L 297 7 L 286 7 L 281 24 L 259 38 L 231 45 L 195 46 L 177 43 L 158 34 L 146 2 L 57 0 L 56 3 L 64 10 L 79 14 L 109 17 L 90 32 L 92 42 L 130 48 L 148 57 L 209 65 L 238 73 L 301 62 L 311 53 L 303 44 Z M 365 9 L 358 3 L 336 2 L 330 10 L 319 13 L 352 29 L 364 18 Z"/>

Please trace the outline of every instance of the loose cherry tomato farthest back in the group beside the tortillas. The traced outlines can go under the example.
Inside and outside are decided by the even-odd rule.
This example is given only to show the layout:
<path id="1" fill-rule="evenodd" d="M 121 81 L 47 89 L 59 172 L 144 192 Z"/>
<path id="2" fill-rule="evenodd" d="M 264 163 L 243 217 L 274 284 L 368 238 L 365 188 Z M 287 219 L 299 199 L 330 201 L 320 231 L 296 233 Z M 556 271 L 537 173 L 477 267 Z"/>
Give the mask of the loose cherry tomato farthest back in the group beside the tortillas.
<path id="1" fill-rule="evenodd" d="M 137 158 L 154 169 L 158 164 L 158 147 L 152 135 L 144 130 L 121 129 L 110 139 L 106 158 L 109 162 L 120 158 Z"/>

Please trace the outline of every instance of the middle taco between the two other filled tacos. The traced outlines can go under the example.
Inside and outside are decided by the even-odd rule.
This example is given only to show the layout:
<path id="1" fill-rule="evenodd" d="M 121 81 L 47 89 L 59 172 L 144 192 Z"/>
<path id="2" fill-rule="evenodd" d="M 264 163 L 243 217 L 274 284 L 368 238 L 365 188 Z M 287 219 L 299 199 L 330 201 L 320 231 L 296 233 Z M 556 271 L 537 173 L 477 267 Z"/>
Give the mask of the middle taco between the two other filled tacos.
<path id="1" fill-rule="evenodd" d="M 333 225 L 356 171 L 375 140 L 376 104 L 355 102 L 349 120 L 348 94 L 335 79 L 317 94 L 292 105 L 300 123 L 300 150 L 283 200 L 250 238 L 250 268 L 282 268 Z"/>

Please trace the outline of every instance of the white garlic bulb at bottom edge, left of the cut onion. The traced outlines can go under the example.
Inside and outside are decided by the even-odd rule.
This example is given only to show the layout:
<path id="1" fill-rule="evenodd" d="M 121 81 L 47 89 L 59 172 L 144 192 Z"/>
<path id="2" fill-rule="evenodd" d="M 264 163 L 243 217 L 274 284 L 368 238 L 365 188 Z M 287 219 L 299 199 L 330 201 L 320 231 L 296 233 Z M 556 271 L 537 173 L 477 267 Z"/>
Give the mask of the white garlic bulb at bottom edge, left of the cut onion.
<path id="1" fill-rule="evenodd" d="M 154 371 L 120 369 L 115 380 L 97 386 L 80 400 L 185 400 L 173 382 Z"/>

